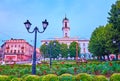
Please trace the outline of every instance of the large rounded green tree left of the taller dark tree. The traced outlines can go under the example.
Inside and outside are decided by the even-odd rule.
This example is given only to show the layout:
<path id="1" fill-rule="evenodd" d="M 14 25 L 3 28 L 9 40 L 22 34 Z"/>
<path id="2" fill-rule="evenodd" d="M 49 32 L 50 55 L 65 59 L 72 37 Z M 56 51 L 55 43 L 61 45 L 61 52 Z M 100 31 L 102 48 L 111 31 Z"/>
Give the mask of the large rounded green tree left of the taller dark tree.
<path id="1" fill-rule="evenodd" d="M 104 57 L 107 55 L 109 60 L 109 54 L 113 52 L 112 26 L 112 24 L 99 26 L 93 31 L 88 48 L 94 56 Z"/>

